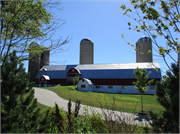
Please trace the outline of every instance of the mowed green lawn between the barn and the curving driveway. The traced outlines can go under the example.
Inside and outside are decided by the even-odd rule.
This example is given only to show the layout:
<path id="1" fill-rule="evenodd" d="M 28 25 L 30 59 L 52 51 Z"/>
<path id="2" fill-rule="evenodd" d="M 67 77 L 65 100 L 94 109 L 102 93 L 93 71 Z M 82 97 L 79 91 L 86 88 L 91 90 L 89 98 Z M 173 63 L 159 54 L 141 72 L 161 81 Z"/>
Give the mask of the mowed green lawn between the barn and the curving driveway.
<path id="1" fill-rule="evenodd" d="M 58 96 L 65 100 L 75 102 L 77 99 L 81 104 L 103 107 L 111 109 L 114 105 L 116 111 L 138 113 L 141 111 L 141 95 L 134 94 L 110 94 L 97 92 L 81 92 L 72 90 L 73 86 L 54 86 L 54 87 L 39 87 L 55 92 Z M 114 98 L 114 99 L 113 99 Z M 155 95 L 143 95 L 143 110 L 148 112 L 152 110 L 159 113 L 164 108 L 158 103 Z M 115 100 L 115 101 L 113 101 Z M 115 102 L 115 103 L 114 103 Z"/>

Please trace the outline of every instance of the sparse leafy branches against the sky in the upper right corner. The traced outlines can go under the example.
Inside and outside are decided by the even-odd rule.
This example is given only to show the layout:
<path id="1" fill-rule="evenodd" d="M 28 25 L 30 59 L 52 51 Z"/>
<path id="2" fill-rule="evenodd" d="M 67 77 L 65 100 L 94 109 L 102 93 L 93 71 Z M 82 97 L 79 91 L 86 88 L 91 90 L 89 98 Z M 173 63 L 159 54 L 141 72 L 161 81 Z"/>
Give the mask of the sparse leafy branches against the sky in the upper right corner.
<path id="1" fill-rule="evenodd" d="M 137 25 L 134 22 L 132 24 L 128 22 L 129 29 L 133 29 L 136 32 L 144 32 L 151 37 L 152 42 L 156 46 L 155 50 L 162 56 L 165 64 L 171 70 L 171 62 L 168 63 L 166 58 L 169 56 L 173 62 L 178 63 L 178 60 L 174 59 L 172 54 L 178 53 L 180 45 L 180 1 L 131 0 L 131 4 L 134 6 L 134 10 L 126 8 L 124 4 L 120 6 L 125 11 L 124 15 L 137 22 Z M 160 6 L 159 9 L 157 6 Z M 164 37 L 167 44 L 157 41 L 157 38 L 160 36 Z M 124 38 L 123 34 L 122 37 Z M 128 44 L 130 43 L 128 42 Z M 173 71 L 171 70 L 171 72 Z M 174 75 L 176 76 L 176 74 Z"/>

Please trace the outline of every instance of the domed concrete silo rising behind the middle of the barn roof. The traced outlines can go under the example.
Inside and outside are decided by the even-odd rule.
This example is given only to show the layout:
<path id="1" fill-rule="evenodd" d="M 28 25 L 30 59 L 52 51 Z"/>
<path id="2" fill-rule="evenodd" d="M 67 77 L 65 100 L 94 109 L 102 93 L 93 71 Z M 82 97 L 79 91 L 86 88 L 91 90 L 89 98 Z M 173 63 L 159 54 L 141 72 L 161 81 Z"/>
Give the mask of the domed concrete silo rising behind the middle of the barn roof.
<path id="1" fill-rule="evenodd" d="M 90 39 L 84 38 L 80 42 L 80 64 L 94 63 L 94 44 Z"/>

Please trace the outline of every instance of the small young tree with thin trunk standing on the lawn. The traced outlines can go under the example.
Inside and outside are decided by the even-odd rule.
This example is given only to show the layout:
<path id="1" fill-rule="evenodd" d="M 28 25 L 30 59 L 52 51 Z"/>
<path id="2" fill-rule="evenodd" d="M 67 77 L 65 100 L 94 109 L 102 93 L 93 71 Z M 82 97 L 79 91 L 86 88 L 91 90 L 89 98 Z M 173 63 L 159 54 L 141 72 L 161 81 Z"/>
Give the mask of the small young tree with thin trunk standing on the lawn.
<path id="1" fill-rule="evenodd" d="M 138 90 L 141 93 L 141 110 L 143 113 L 143 100 L 142 100 L 142 94 L 144 94 L 147 91 L 147 84 L 150 85 L 151 83 L 154 82 L 154 79 L 148 80 L 149 74 L 151 72 L 149 71 L 149 74 L 146 75 L 146 69 L 140 70 L 138 67 L 134 70 L 134 75 L 137 79 L 136 82 L 133 82 L 135 85 L 135 89 Z"/>

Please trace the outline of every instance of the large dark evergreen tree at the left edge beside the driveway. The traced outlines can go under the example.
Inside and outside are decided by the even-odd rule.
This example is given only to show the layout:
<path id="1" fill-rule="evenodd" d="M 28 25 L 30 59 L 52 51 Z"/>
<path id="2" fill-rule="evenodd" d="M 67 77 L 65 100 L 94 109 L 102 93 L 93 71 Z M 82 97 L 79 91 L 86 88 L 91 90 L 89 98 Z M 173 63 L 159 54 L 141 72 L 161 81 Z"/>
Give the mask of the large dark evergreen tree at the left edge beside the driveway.
<path id="1" fill-rule="evenodd" d="M 47 129 L 48 111 L 40 120 L 40 109 L 34 99 L 34 83 L 30 83 L 23 64 L 14 51 L 1 70 L 1 132 L 42 133 Z M 29 94 L 27 94 L 29 93 Z M 23 97 L 23 95 L 27 97 Z"/>

